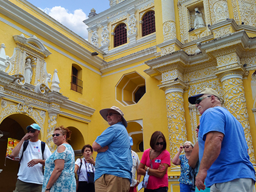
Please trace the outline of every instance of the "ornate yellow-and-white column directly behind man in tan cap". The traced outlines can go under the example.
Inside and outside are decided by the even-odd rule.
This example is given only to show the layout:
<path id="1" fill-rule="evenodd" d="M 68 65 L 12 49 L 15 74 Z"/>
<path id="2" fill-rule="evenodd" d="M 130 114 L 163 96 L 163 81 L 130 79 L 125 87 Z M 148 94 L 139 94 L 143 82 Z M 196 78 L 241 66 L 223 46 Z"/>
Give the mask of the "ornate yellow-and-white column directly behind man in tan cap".
<path id="1" fill-rule="evenodd" d="M 240 57 L 236 52 L 217 55 L 216 59 L 219 70 L 216 75 L 219 76 L 222 83 L 224 107 L 242 124 L 249 147 L 250 161 L 256 167 L 243 86 L 243 75 L 246 71 L 242 67 Z"/>

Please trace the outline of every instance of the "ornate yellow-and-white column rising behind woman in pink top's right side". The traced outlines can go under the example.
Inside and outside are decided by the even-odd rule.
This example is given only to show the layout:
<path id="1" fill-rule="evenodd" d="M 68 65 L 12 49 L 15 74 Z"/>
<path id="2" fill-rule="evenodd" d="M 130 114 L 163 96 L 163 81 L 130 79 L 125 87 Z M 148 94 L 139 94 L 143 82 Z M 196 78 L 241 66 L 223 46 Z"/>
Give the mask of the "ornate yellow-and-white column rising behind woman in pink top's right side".
<path id="1" fill-rule="evenodd" d="M 170 82 L 159 86 L 165 92 L 167 121 L 168 121 L 168 139 L 170 159 L 179 151 L 180 145 L 187 140 L 186 120 L 183 100 L 183 90 L 186 88 L 182 81 Z M 172 164 L 172 171 L 179 171 L 180 167 Z"/>

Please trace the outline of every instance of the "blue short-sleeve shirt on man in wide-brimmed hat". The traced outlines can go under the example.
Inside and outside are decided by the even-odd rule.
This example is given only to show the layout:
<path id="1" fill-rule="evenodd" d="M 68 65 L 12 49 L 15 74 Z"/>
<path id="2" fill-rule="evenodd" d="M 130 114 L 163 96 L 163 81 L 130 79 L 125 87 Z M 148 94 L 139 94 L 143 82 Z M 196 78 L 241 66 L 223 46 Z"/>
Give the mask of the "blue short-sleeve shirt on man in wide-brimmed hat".
<path id="1" fill-rule="evenodd" d="M 95 140 L 101 147 L 108 145 L 106 152 L 98 153 L 95 164 L 95 181 L 103 174 L 132 179 L 133 160 L 130 139 L 122 122 L 106 129 Z"/>

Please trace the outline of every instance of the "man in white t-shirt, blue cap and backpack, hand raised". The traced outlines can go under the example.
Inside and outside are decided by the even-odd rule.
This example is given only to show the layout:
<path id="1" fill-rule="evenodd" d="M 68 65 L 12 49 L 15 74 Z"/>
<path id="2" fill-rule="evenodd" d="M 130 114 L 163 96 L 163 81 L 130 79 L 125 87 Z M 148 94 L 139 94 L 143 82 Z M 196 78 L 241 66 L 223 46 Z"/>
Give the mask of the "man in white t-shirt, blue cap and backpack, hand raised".
<path id="1" fill-rule="evenodd" d="M 47 144 L 38 139 L 40 129 L 41 127 L 36 123 L 27 126 L 28 133 L 11 154 L 11 158 L 20 159 L 15 192 L 41 192 L 42 190 L 43 165 L 51 156 L 51 151 Z"/>

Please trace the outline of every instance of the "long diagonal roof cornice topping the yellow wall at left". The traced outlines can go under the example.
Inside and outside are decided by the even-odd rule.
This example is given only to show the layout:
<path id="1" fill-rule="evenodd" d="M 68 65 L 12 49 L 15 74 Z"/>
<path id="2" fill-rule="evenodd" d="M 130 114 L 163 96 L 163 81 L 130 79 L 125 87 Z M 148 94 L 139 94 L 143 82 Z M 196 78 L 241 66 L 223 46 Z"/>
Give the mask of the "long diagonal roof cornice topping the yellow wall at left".
<path id="1" fill-rule="evenodd" d="M 64 27 L 63 25 L 59 24 L 56 20 L 39 10 L 38 8 L 34 7 L 30 3 L 24 0 L 19 0 L 25 6 L 29 7 L 35 12 L 38 12 L 42 15 L 42 17 L 46 17 L 49 19 L 54 25 L 58 26 L 59 28 L 63 29 L 64 31 L 68 31 L 71 35 L 73 35 L 78 41 L 80 41 L 85 46 L 95 50 L 100 54 L 104 54 L 101 50 L 90 44 L 88 41 L 80 37 L 79 35 L 75 34 L 68 28 Z M 65 35 L 61 34 L 60 32 L 56 31 L 55 29 L 51 28 L 40 19 L 32 16 L 28 12 L 23 9 L 20 9 L 15 4 L 11 3 L 10 1 L 0 0 L 0 12 L 9 18 L 13 19 L 15 22 L 23 25 L 24 27 L 32 30 L 34 33 L 45 37 L 46 39 L 50 40 L 57 46 L 67 50 L 71 54 L 76 55 L 77 57 L 81 58 L 82 60 L 86 60 L 92 66 L 96 68 L 100 68 L 102 63 L 104 62 L 97 56 L 92 56 L 91 52 L 87 49 L 81 47 L 80 45 L 76 44 L 73 40 L 69 39 Z"/>

